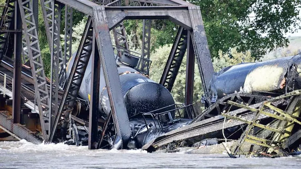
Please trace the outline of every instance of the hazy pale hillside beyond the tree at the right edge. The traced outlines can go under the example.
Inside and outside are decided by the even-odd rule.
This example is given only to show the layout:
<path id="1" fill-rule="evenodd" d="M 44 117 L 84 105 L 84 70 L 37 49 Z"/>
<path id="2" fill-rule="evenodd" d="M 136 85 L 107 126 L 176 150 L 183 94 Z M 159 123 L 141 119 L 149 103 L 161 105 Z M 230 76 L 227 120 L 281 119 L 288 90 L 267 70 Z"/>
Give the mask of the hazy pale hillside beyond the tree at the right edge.
<path id="1" fill-rule="evenodd" d="M 301 36 L 288 37 L 290 44 L 287 48 L 277 48 L 266 54 L 262 61 L 276 59 L 279 57 L 293 56 L 301 52 Z"/>

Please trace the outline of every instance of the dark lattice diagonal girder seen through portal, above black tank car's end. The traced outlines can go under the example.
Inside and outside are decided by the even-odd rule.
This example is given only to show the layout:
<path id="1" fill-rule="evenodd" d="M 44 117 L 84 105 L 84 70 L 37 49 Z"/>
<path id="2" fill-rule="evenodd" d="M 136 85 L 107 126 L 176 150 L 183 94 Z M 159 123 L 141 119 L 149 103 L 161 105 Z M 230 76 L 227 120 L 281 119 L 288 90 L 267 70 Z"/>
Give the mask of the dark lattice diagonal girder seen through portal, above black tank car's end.
<path id="1" fill-rule="evenodd" d="M 166 62 L 165 68 L 163 69 L 160 84 L 166 87 L 169 92 L 171 92 L 173 84 L 175 83 L 175 78 L 178 75 L 178 71 L 186 52 L 187 33 L 188 31 L 183 27 L 178 28 L 175 41 L 173 42 L 168 60 Z"/>

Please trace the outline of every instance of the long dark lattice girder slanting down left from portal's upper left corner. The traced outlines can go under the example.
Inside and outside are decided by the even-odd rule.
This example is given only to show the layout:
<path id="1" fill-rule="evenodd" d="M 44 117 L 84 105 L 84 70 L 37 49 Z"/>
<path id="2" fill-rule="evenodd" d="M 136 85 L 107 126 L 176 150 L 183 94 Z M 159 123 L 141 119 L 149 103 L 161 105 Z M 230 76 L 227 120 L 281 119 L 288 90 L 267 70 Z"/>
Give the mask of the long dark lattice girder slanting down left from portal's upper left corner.
<path id="1" fill-rule="evenodd" d="M 79 92 L 80 85 L 82 84 L 82 79 L 85 74 L 85 70 L 87 68 L 88 61 L 91 56 L 92 52 L 92 37 L 93 36 L 93 25 L 92 25 L 92 17 L 88 17 L 88 21 L 85 26 L 85 30 L 80 41 L 79 48 L 77 50 L 76 57 L 74 59 L 73 66 L 71 68 L 71 72 L 69 78 L 67 80 L 67 86 L 64 91 L 59 109 L 55 116 L 55 120 L 53 121 L 53 128 L 51 129 L 51 134 L 48 141 L 52 141 L 56 128 L 57 123 L 61 118 L 62 112 L 67 106 L 67 110 L 64 111 L 64 116 L 69 117 L 70 111 L 73 109 L 74 102 L 77 98 L 77 94 Z M 64 119 L 64 126 L 67 125 L 69 118 Z"/>

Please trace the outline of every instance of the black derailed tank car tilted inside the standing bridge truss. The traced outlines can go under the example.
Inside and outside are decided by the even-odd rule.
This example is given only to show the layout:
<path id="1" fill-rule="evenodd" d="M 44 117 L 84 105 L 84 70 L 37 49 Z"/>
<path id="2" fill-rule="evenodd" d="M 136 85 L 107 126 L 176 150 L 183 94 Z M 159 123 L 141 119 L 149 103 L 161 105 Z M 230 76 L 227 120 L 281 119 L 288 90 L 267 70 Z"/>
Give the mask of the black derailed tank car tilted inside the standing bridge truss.
<path id="1" fill-rule="evenodd" d="M 67 64 L 67 77 L 70 74 L 70 65 L 73 64 L 74 58 L 75 54 Z M 136 59 L 138 60 L 135 56 L 130 55 L 125 55 L 122 59 L 116 59 L 123 99 L 132 129 L 132 138 L 129 141 L 128 148 L 141 148 L 160 135 L 185 126 L 191 121 L 191 119 L 180 117 L 179 114 L 181 113 L 177 109 L 180 105 L 175 104 L 171 93 L 163 85 L 151 80 L 136 68 L 138 63 L 138 61 L 135 61 Z M 90 60 L 79 90 L 80 99 L 73 110 L 73 115 L 79 118 L 88 116 L 87 109 L 91 95 L 91 66 Z M 103 119 L 107 119 L 111 107 L 102 69 L 100 75 L 99 115 Z M 184 106 L 184 108 L 188 110 L 187 107 Z M 193 108 L 190 105 L 189 111 L 184 113 L 192 114 L 192 112 Z M 104 141 L 112 144 L 114 139 L 116 138 L 106 137 Z"/>

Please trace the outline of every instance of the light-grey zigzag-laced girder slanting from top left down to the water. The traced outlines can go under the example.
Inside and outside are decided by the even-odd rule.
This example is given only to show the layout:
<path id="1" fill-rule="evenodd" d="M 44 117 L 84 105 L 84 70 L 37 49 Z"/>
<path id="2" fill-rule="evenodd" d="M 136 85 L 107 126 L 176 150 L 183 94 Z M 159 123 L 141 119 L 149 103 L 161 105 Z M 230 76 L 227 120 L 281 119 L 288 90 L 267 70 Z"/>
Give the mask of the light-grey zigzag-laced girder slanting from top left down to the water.
<path id="1" fill-rule="evenodd" d="M 33 4 L 31 0 L 18 0 L 18 2 L 20 4 L 19 7 L 25 40 L 23 41 L 24 55 L 28 57 L 30 61 L 42 134 L 43 138 L 47 140 L 48 134 L 46 131 L 48 128 L 45 128 L 45 126 L 49 124 L 50 118 L 49 93 L 39 46 L 36 22 L 33 15 Z"/>

